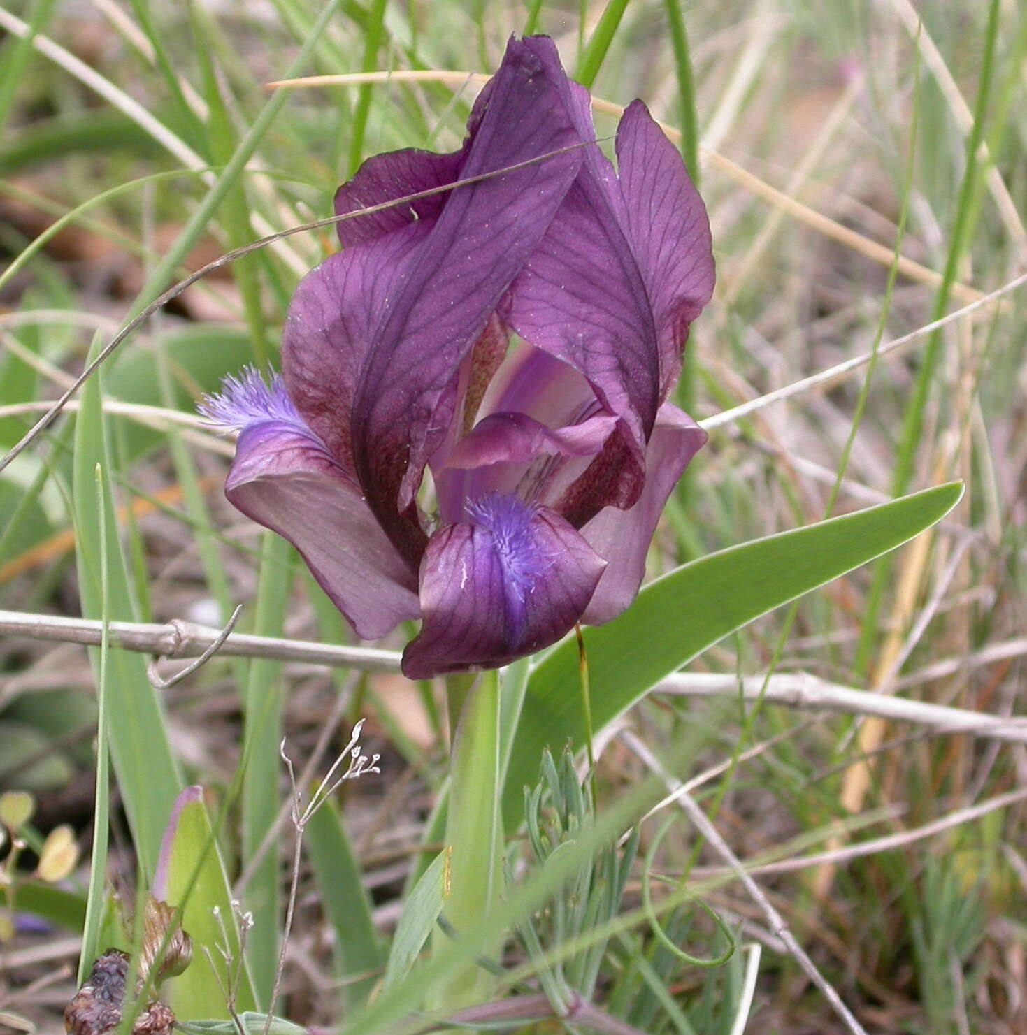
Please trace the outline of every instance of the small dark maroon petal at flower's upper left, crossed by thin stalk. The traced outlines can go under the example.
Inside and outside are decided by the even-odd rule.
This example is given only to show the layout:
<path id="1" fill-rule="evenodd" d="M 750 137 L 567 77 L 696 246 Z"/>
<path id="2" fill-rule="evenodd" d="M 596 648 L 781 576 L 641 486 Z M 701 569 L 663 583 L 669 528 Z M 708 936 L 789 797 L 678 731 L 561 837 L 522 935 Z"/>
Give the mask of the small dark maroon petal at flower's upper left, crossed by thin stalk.
<path id="1" fill-rule="evenodd" d="M 452 183 L 460 175 L 464 157 L 463 149 L 449 154 L 436 154 L 413 147 L 376 154 L 360 166 L 353 179 L 335 191 L 335 215 Z M 447 197 L 448 193 L 442 191 L 370 215 L 344 219 L 336 224 L 339 239 L 344 247 L 349 247 L 372 241 L 414 220 L 434 220 L 442 211 Z"/>

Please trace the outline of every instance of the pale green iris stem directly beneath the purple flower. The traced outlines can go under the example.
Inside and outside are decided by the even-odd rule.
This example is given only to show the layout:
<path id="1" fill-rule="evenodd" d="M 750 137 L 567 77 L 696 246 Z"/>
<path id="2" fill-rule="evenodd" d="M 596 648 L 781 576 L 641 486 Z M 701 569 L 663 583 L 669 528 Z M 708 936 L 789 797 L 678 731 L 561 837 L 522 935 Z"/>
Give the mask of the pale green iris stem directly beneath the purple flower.
<path id="1" fill-rule="evenodd" d="M 457 937 L 474 928 L 499 901 L 503 842 L 499 814 L 499 675 L 450 676 L 450 786 L 446 818 L 449 853 L 443 915 Z M 449 939 L 437 934 L 436 954 Z M 491 955 L 495 946 L 476 946 Z M 430 1005 L 448 1012 L 483 1002 L 495 978 L 469 960 L 451 970 L 431 994 Z"/>

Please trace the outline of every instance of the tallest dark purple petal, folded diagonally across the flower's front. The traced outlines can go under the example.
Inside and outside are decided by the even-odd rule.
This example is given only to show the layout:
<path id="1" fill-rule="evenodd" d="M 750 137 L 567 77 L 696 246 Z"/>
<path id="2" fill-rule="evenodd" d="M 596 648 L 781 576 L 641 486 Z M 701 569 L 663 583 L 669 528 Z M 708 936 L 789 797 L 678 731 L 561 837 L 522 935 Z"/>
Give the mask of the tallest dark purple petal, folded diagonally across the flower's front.
<path id="1" fill-rule="evenodd" d="M 462 179 L 576 143 L 560 95 L 565 76 L 557 72 L 524 42 L 510 42 Z M 580 162 L 578 151 L 564 151 L 451 191 L 389 296 L 357 386 L 353 453 L 373 510 L 407 557 L 419 555 L 409 514 L 424 466 L 454 418 L 458 369 L 535 249 Z"/>

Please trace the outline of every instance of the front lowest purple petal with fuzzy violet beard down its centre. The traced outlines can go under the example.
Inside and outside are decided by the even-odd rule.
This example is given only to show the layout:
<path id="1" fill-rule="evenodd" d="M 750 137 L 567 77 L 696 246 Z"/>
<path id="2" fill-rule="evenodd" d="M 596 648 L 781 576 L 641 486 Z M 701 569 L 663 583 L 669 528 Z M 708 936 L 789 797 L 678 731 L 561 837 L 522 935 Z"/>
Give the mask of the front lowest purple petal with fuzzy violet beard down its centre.
<path id="1" fill-rule="evenodd" d="M 471 523 L 432 536 L 421 564 L 424 624 L 403 655 L 410 679 L 495 668 L 559 640 L 585 610 L 605 562 L 562 518 L 490 496 Z"/>

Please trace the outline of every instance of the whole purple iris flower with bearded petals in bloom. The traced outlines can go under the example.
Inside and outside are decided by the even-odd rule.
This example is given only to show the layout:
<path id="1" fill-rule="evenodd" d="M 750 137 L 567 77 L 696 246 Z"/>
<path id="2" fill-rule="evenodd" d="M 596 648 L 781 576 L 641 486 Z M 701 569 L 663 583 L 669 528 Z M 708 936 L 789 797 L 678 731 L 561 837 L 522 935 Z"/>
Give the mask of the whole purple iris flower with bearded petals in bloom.
<path id="1" fill-rule="evenodd" d="M 594 137 L 553 41 L 512 39 L 459 151 L 377 155 L 335 211 L 529 164 L 340 223 L 289 308 L 283 377 L 207 401 L 240 432 L 229 500 L 357 633 L 422 620 L 411 678 L 620 614 L 706 439 L 667 403 L 713 290 L 706 210 L 641 101 L 616 172 Z"/>

